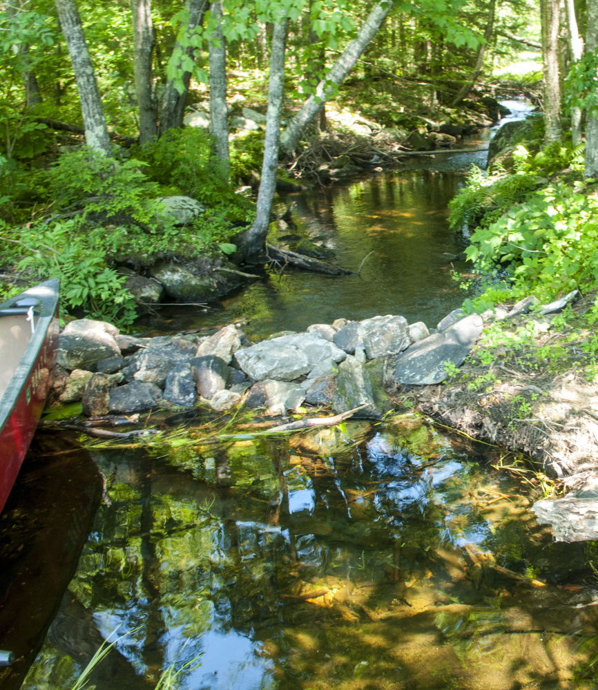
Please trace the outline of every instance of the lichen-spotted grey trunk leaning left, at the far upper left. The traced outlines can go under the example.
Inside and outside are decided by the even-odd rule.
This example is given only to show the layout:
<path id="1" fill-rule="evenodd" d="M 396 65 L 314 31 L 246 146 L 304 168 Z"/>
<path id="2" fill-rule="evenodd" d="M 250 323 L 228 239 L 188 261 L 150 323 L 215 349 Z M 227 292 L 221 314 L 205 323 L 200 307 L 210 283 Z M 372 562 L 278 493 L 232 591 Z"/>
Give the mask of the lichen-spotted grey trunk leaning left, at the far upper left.
<path id="1" fill-rule="evenodd" d="M 77 3 L 75 0 L 55 0 L 55 3 L 70 61 L 75 72 L 86 143 L 95 151 L 108 156 L 112 155 L 102 99 L 99 96 Z"/>

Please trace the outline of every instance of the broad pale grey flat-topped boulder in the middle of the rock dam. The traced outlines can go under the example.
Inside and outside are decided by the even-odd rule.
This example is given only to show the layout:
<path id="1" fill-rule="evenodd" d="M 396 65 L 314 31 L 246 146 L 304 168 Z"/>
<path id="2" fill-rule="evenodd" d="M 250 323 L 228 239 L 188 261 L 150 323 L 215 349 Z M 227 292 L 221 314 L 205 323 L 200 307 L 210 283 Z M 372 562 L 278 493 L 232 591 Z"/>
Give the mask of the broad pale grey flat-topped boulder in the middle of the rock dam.
<path id="1" fill-rule="evenodd" d="M 346 353 L 314 333 L 298 333 L 242 347 L 235 353 L 241 369 L 255 381 L 293 381 L 322 361 L 343 361 Z"/>

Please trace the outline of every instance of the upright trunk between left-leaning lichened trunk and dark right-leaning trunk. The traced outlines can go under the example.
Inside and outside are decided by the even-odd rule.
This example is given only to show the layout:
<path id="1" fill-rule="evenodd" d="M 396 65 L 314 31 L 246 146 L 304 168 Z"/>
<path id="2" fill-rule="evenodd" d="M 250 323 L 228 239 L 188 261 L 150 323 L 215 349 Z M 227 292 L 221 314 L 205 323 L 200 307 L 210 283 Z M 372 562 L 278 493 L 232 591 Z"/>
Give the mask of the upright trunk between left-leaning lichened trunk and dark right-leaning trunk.
<path id="1" fill-rule="evenodd" d="M 139 144 L 155 140 L 157 108 L 152 94 L 152 52 L 155 44 L 151 0 L 131 0 L 133 74 L 139 108 Z"/>

